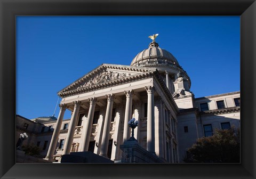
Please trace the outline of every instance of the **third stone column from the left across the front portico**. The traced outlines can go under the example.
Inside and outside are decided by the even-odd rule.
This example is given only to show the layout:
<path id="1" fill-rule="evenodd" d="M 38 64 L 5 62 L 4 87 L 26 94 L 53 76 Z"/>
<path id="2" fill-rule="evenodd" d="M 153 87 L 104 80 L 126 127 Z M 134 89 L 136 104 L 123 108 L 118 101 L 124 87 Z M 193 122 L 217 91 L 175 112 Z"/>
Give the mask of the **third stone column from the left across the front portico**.
<path id="1" fill-rule="evenodd" d="M 89 101 L 90 101 L 90 108 L 89 108 L 89 112 L 88 112 L 88 116 L 87 116 L 87 121 L 84 126 L 85 137 L 84 137 L 84 141 L 83 141 L 83 145 L 82 145 L 82 151 L 88 151 L 88 148 L 89 148 L 90 137 L 91 137 L 91 132 L 92 132 L 94 109 L 95 109 L 95 105 L 97 102 L 95 97 L 89 98 Z"/>

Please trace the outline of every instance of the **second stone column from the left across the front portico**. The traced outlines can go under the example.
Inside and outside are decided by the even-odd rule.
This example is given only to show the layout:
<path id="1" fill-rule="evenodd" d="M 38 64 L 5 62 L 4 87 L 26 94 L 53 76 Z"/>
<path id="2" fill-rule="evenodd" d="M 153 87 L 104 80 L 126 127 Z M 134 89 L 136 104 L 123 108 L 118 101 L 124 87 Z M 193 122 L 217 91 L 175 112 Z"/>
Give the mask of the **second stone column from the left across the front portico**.
<path id="1" fill-rule="evenodd" d="M 75 133 L 75 129 L 76 129 L 78 112 L 79 112 L 81 102 L 80 101 L 74 101 L 73 103 L 74 103 L 75 107 L 74 107 L 73 115 L 72 115 L 71 120 L 69 122 L 68 134 L 67 134 L 67 138 L 65 140 L 65 144 L 64 144 L 62 154 L 69 154 L 70 153 L 71 145 L 72 145 L 73 139 L 74 139 L 74 133 Z"/>

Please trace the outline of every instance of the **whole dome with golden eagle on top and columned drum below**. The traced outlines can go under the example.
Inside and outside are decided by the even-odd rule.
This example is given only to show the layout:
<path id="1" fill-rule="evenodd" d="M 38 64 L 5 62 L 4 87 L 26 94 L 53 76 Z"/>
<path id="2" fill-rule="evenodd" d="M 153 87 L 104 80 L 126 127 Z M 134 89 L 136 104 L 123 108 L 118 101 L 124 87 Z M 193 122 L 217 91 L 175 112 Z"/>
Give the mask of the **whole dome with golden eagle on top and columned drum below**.
<path id="1" fill-rule="evenodd" d="M 133 58 L 131 66 L 157 68 L 172 94 L 188 94 L 191 82 L 187 72 L 183 70 L 170 52 L 159 47 L 158 43 L 155 42 L 157 36 L 158 34 L 149 36 L 153 41 L 147 49 L 139 52 Z"/>

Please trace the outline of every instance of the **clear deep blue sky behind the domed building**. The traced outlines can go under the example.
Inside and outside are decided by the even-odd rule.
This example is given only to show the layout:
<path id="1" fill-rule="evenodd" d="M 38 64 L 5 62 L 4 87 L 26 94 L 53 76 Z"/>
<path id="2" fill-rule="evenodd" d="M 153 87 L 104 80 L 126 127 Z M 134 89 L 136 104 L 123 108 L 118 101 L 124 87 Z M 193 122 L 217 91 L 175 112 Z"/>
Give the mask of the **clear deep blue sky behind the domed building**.
<path id="1" fill-rule="evenodd" d="M 52 116 L 57 92 L 100 64 L 130 65 L 153 34 L 187 71 L 195 97 L 240 90 L 238 16 L 17 17 L 16 33 L 16 111 L 28 119 Z"/>

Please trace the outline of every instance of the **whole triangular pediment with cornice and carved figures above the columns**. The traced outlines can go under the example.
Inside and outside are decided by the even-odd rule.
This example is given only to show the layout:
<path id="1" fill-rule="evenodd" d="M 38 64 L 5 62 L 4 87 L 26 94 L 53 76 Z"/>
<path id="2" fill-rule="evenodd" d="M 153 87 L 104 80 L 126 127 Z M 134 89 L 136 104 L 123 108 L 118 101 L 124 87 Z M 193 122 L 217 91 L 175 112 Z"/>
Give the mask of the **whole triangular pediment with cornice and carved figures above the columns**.
<path id="1" fill-rule="evenodd" d="M 106 87 L 111 82 L 117 83 L 117 81 L 120 79 L 134 77 L 138 74 L 147 73 L 149 71 L 155 71 L 155 68 L 102 64 L 98 68 L 90 71 L 82 78 L 79 78 L 74 83 L 58 92 L 58 95 L 63 96 L 64 93 L 67 94 L 67 92 L 70 91 L 84 91 L 86 88 L 90 89 L 96 87 Z"/>

